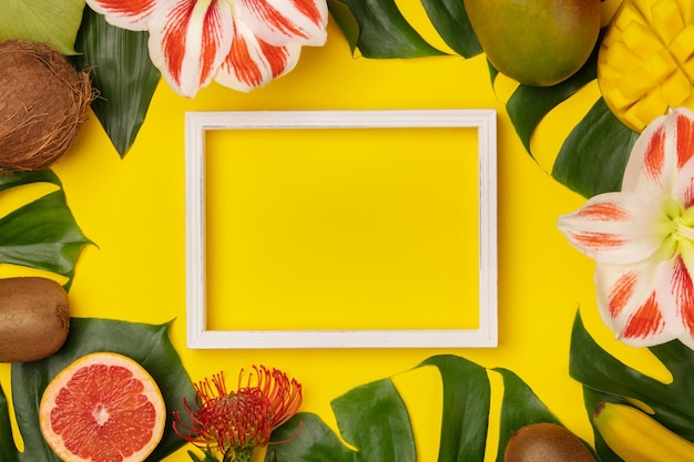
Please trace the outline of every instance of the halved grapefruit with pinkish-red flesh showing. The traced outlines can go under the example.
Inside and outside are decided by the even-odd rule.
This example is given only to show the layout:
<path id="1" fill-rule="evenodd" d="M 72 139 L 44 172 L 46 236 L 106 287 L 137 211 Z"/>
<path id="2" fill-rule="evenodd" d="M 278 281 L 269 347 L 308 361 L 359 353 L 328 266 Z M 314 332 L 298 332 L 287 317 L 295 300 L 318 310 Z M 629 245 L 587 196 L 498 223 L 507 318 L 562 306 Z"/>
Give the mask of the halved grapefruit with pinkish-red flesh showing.
<path id="1" fill-rule="evenodd" d="M 55 376 L 39 417 L 43 438 L 65 462 L 142 462 L 163 437 L 166 408 L 142 366 L 96 352 Z"/>

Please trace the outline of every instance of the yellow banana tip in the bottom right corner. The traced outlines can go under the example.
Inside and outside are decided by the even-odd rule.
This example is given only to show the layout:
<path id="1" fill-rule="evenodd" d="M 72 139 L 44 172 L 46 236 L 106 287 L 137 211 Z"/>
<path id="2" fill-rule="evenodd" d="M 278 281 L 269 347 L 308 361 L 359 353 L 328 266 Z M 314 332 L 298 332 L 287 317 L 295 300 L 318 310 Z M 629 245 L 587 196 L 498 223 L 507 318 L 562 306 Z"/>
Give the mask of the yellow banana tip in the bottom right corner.
<path id="1" fill-rule="evenodd" d="M 625 462 L 694 462 L 694 443 L 631 405 L 601 402 L 593 424 Z"/>

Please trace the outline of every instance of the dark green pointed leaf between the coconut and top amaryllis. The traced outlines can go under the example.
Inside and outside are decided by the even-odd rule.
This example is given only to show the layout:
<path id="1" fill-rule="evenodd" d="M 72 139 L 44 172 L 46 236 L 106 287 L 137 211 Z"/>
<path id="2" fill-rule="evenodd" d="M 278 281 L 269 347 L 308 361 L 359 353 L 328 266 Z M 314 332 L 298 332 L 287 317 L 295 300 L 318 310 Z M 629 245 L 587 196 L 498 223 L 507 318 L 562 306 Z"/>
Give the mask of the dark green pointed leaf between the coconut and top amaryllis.
<path id="1" fill-rule="evenodd" d="M 76 38 L 72 58 L 78 69 L 90 69 L 99 97 L 92 110 L 121 157 L 135 142 L 160 80 L 150 60 L 147 32 L 109 24 L 90 8 Z"/>

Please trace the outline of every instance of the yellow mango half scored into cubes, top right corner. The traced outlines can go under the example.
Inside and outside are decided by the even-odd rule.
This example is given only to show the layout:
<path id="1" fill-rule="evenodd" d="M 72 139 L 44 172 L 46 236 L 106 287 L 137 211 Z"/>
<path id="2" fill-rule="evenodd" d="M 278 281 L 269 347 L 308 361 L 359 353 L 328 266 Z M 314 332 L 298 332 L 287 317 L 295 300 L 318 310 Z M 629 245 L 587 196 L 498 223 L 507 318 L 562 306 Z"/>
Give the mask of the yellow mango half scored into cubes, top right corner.
<path id="1" fill-rule="evenodd" d="M 601 43 L 598 83 L 635 132 L 670 107 L 694 109 L 694 1 L 624 0 Z"/>

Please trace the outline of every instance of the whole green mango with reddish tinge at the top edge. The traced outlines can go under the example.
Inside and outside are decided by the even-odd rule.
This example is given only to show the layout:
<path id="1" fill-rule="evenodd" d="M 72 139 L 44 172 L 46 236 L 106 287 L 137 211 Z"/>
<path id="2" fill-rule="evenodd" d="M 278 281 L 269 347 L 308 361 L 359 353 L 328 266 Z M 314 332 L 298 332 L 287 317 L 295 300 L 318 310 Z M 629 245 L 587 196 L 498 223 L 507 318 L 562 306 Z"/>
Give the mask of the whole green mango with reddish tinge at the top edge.
<path id="1" fill-rule="evenodd" d="M 600 33 L 600 0 L 465 0 L 465 7 L 487 59 L 525 85 L 569 79 Z"/>

